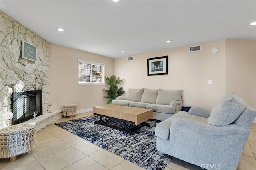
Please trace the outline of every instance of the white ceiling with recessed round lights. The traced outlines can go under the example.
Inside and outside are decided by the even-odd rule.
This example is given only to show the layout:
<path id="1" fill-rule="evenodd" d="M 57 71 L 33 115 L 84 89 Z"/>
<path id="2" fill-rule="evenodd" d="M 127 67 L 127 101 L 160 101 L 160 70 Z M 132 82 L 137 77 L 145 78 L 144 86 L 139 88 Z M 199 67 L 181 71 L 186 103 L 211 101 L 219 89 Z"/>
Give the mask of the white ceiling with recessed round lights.
<path id="1" fill-rule="evenodd" d="M 111 58 L 218 39 L 256 40 L 256 26 L 250 26 L 256 21 L 255 0 L 1 0 L 0 5 L 50 43 Z"/>

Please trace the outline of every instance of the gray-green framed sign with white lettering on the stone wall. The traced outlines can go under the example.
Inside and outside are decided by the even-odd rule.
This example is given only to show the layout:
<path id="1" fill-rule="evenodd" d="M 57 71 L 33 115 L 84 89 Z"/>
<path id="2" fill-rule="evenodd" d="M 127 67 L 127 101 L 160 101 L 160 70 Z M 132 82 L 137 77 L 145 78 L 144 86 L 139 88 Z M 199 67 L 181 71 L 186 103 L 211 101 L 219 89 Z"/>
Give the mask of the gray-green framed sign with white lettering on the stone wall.
<path id="1" fill-rule="evenodd" d="M 23 41 L 23 43 L 22 43 L 22 58 L 36 61 L 36 56 L 37 56 L 36 46 L 34 46 L 26 41 Z"/>

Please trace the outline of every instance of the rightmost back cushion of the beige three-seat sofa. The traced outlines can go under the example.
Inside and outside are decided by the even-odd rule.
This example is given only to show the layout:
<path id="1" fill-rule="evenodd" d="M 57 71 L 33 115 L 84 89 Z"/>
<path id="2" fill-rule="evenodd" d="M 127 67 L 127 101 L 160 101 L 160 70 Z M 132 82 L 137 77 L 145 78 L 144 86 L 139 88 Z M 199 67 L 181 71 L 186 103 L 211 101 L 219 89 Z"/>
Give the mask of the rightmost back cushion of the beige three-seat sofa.
<path id="1" fill-rule="evenodd" d="M 158 90 L 156 104 L 170 105 L 173 100 L 180 101 L 182 99 L 182 90 Z"/>

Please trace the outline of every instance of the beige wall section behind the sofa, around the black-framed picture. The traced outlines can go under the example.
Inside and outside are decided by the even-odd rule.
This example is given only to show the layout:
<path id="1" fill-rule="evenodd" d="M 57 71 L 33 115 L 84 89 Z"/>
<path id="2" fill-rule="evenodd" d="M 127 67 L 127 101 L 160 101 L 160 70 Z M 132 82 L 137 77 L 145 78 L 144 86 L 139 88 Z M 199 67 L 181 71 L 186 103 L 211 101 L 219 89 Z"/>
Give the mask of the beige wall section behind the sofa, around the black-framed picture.
<path id="1" fill-rule="evenodd" d="M 199 45 L 199 44 L 195 44 Z M 202 51 L 189 53 L 189 46 L 114 59 L 114 74 L 122 86 L 183 90 L 183 105 L 211 109 L 226 94 L 225 40 L 202 43 Z M 217 53 L 212 53 L 218 48 Z M 168 75 L 147 76 L 147 59 L 168 55 Z M 255 63 L 255 62 L 254 62 Z M 213 80 L 209 85 L 208 80 Z M 255 94 L 255 93 L 254 93 Z"/>

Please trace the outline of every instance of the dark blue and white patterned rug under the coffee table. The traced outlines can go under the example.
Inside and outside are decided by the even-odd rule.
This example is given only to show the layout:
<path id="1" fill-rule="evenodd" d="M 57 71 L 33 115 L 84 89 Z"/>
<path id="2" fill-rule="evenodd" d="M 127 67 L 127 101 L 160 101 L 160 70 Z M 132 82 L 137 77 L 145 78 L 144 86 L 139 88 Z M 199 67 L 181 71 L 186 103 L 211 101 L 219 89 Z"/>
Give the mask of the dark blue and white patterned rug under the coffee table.
<path id="1" fill-rule="evenodd" d="M 146 121 L 150 127 L 144 126 L 135 131 L 135 135 L 103 125 L 94 124 L 99 116 L 91 115 L 55 125 L 102 147 L 147 170 L 163 170 L 172 160 L 171 156 L 159 156 L 156 150 L 156 124 L 160 121 Z M 120 121 L 110 120 L 108 124 L 122 126 Z M 127 123 L 127 126 L 134 125 Z"/>

